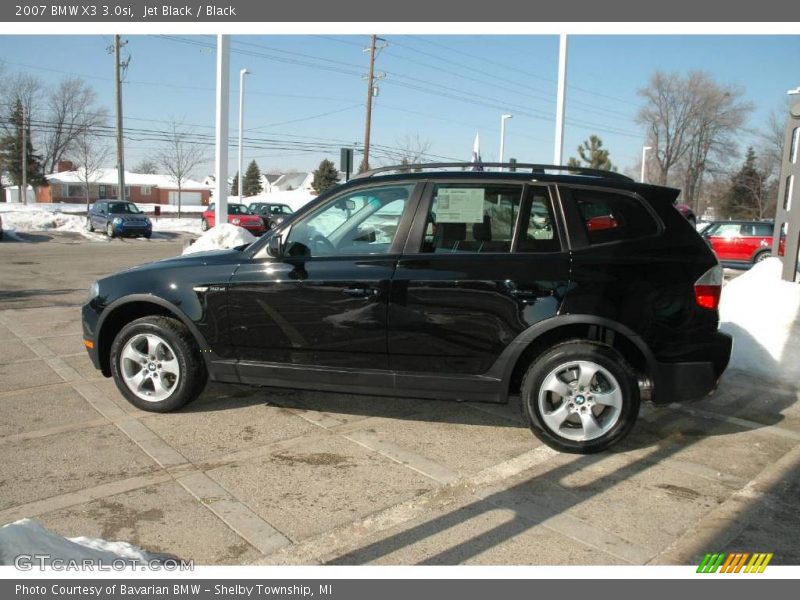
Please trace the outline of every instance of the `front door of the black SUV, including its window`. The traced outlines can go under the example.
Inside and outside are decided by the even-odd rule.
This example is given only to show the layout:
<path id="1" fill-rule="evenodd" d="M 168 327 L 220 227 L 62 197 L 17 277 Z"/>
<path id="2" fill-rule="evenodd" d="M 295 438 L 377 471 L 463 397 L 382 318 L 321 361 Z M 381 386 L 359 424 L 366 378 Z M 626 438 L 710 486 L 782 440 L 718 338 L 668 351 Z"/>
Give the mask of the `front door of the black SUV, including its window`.
<path id="1" fill-rule="evenodd" d="M 277 230 L 229 286 L 231 335 L 245 371 L 271 367 L 386 369 L 388 292 L 414 184 L 366 186 Z"/>

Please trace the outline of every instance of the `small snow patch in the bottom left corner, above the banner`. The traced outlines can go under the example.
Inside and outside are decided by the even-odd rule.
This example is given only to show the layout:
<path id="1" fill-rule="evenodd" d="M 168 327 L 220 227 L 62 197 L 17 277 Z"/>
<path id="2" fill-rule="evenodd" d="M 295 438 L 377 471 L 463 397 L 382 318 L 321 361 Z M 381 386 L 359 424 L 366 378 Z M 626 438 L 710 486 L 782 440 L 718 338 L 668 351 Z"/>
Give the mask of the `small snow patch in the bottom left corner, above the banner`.
<path id="1" fill-rule="evenodd" d="M 0 565 L 13 565 L 14 557 L 25 555 L 49 555 L 52 560 L 62 561 L 102 561 L 110 565 L 112 561 L 163 561 L 172 559 L 166 554 L 153 554 L 127 542 L 108 542 L 97 538 L 65 538 L 36 521 L 21 519 L 0 527 Z M 37 561 L 38 564 L 38 561 Z M 79 562 L 80 564 L 80 562 Z"/>

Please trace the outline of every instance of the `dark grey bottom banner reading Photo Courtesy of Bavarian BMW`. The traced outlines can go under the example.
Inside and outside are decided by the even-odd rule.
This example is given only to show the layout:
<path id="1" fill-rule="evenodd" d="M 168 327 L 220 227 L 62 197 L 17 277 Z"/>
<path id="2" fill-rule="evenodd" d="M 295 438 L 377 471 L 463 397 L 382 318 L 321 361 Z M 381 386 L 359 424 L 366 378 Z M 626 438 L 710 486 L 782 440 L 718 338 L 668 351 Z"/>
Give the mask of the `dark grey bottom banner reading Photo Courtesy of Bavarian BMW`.
<path id="1" fill-rule="evenodd" d="M 576 570 L 580 567 L 575 567 Z M 164 600 L 267 600 L 320 598 L 324 600 L 422 600 L 424 598 L 622 598 L 674 600 L 680 597 L 725 600 L 754 597 L 790 597 L 796 593 L 792 580 L 721 578 L 698 575 L 697 579 L 280 579 L 262 580 L 117 580 L 55 579 L 0 580 L 0 598 L 9 600 L 142 599 Z M 766 595 L 765 595 L 766 594 Z M 723 596 L 724 595 L 724 596 Z"/>

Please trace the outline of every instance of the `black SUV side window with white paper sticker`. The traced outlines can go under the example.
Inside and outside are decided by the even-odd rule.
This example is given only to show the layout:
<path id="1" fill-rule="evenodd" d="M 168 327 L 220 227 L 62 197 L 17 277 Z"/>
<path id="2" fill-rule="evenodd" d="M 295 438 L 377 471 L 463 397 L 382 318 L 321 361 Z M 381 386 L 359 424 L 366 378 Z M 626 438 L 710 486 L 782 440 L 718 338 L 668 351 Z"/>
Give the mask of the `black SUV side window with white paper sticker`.
<path id="1" fill-rule="evenodd" d="M 422 252 L 508 252 L 522 186 L 438 184 Z"/>

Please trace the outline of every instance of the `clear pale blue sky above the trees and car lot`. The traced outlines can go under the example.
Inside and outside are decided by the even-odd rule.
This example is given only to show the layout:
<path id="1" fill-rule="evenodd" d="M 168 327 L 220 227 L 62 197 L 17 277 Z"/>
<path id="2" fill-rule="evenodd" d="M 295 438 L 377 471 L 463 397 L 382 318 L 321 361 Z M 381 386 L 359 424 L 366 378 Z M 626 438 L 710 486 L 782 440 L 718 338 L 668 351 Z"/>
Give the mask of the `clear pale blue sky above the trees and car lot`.
<path id="1" fill-rule="evenodd" d="M 468 160 L 476 132 L 484 160 L 499 153 L 500 115 L 507 123 L 506 157 L 551 162 L 555 117 L 557 36 L 384 36 L 389 46 L 376 69 L 386 73 L 375 99 L 373 143 L 396 147 L 407 136 L 429 152 Z M 126 36 L 131 56 L 124 86 L 125 125 L 163 129 L 179 118 L 200 133 L 214 131 L 213 36 Z M 8 71 L 43 80 L 85 77 L 112 109 L 111 36 L 0 36 Z M 367 36 L 233 36 L 231 136 L 238 135 L 238 72 L 248 68 L 246 135 L 262 170 L 314 168 L 338 162 L 341 145 L 363 141 Z M 22 66 L 27 65 L 27 66 Z M 786 105 L 800 85 L 800 36 L 570 36 L 565 157 L 591 134 L 602 137 L 620 170 L 639 160 L 644 140 L 634 116 L 637 90 L 656 69 L 709 72 L 737 84 L 756 109 L 745 145 L 763 129 L 771 109 Z M 2 85 L 0 83 L 0 85 Z M 146 136 L 143 136 L 146 137 Z M 255 141 L 257 140 L 257 141 Z M 269 141 L 265 141 L 269 140 Z M 304 152 L 298 143 L 325 147 Z M 128 164 L 153 148 L 128 141 Z M 275 147 L 277 146 L 277 147 Z M 213 171 L 213 146 L 200 176 Z M 392 163 L 388 156 L 373 156 Z M 230 154 L 235 169 L 235 149 Z M 358 158 L 356 159 L 358 161 Z M 372 161 L 373 165 L 375 160 Z"/>

